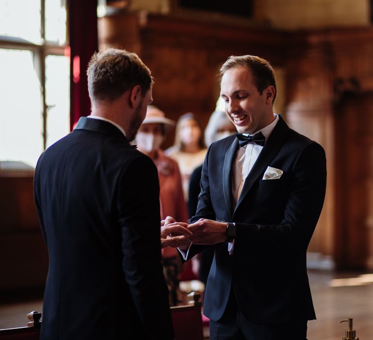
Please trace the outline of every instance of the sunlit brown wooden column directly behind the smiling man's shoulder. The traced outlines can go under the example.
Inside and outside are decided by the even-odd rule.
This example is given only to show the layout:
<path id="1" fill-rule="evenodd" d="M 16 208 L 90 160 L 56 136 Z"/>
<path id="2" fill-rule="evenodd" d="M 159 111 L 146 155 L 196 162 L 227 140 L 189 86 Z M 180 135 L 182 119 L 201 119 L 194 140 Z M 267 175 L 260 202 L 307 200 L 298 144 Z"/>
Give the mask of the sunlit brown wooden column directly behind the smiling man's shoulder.
<path id="1" fill-rule="evenodd" d="M 291 37 L 287 61 L 286 119 L 291 128 L 317 141 L 327 157 L 327 187 L 319 222 L 308 247 L 318 257 L 332 258 L 334 232 L 333 195 L 333 85 L 327 46 L 306 33 Z"/>

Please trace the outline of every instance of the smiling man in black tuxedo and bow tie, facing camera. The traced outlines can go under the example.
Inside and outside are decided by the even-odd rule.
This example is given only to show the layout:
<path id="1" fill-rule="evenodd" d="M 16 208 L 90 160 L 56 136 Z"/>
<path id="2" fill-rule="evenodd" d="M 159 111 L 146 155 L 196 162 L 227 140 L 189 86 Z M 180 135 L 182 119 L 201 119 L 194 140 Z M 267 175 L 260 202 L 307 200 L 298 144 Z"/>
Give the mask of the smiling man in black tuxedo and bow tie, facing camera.
<path id="1" fill-rule="evenodd" d="M 305 340 L 315 319 L 306 250 L 325 195 L 325 153 L 273 113 L 268 61 L 232 56 L 220 71 L 239 134 L 210 146 L 191 244 L 179 251 L 188 260 L 215 247 L 204 296 L 211 339 Z"/>

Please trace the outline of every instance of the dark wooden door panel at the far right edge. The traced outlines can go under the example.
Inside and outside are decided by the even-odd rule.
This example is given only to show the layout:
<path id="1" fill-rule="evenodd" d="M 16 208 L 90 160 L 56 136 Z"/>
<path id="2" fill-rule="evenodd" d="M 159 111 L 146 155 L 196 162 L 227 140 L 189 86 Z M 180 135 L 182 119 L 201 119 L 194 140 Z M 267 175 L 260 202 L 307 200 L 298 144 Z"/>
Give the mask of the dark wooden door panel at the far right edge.
<path id="1" fill-rule="evenodd" d="M 373 94 L 347 93 L 336 107 L 336 261 L 372 269 Z"/>

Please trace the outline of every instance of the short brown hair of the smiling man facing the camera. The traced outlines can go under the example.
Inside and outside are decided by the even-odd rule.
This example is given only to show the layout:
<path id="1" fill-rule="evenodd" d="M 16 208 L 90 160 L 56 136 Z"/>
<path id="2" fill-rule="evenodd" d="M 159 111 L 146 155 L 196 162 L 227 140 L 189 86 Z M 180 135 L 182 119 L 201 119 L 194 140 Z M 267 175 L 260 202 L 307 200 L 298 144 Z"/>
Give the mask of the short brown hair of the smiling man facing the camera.
<path id="1" fill-rule="evenodd" d="M 220 76 L 222 77 L 228 69 L 239 66 L 248 68 L 251 71 L 254 77 L 254 83 L 259 93 L 263 93 L 263 90 L 268 86 L 274 87 L 275 92 L 272 101 L 272 103 L 274 103 L 277 95 L 277 85 L 274 70 L 270 62 L 263 58 L 257 57 L 256 55 L 231 55 L 221 66 Z"/>

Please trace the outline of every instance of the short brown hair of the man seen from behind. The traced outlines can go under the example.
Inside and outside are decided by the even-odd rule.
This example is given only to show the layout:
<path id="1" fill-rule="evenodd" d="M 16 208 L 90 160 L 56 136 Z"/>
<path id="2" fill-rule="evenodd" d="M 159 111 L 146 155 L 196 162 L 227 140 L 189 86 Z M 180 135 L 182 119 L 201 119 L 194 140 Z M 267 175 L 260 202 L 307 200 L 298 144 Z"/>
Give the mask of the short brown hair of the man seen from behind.
<path id="1" fill-rule="evenodd" d="M 87 68 L 88 92 L 91 102 L 115 100 L 136 85 L 141 95 L 153 84 L 150 69 L 136 53 L 107 49 L 93 54 Z"/>

